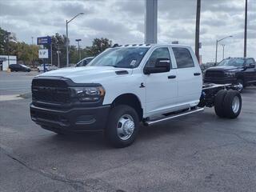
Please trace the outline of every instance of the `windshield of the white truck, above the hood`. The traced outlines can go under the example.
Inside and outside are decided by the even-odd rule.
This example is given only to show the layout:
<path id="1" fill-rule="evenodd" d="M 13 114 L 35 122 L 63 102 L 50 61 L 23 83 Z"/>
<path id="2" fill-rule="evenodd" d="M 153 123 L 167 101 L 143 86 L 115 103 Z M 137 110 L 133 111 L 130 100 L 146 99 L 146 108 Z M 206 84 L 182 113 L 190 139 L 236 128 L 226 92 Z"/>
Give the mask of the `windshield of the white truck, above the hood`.
<path id="1" fill-rule="evenodd" d="M 105 50 L 99 54 L 88 66 L 114 66 L 121 68 L 135 68 L 149 50 L 148 47 L 117 47 Z"/>

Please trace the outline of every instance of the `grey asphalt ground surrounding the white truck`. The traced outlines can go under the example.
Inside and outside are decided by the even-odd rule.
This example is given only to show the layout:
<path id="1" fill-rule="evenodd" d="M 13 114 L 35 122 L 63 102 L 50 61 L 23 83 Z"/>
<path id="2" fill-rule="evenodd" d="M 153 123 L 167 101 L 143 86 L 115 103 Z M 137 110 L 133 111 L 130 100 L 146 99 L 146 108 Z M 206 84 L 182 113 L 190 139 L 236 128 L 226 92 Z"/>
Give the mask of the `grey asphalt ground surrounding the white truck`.
<path id="1" fill-rule="evenodd" d="M 0 96 L 29 93 L 36 74 L 0 73 Z M 206 109 L 141 126 L 123 149 L 102 133 L 42 130 L 30 101 L 0 101 L 0 191 L 255 191 L 256 86 L 244 90 L 237 119 Z"/>

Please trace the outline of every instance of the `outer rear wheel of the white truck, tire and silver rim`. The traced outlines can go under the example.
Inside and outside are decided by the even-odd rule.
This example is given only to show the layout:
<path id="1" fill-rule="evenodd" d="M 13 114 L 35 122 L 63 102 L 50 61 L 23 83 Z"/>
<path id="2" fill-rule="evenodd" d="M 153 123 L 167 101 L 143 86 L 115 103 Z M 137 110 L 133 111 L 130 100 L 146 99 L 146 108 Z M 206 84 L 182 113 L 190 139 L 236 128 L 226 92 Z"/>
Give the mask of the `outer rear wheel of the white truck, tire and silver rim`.
<path id="1" fill-rule="evenodd" d="M 242 97 L 237 90 L 228 90 L 224 98 L 226 118 L 237 118 L 242 108 Z"/>

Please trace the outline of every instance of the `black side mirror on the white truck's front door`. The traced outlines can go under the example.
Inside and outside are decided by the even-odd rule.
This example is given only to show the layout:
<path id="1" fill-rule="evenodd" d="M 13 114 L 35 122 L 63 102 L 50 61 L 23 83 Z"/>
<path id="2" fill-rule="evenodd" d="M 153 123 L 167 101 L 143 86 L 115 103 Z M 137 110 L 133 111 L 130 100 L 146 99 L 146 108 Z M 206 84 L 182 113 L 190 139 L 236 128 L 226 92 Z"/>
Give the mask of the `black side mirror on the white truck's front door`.
<path id="1" fill-rule="evenodd" d="M 146 66 L 144 68 L 144 74 L 156 74 L 164 73 L 170 70 L 169 58 L 158 58 L 154 66 Z"/>

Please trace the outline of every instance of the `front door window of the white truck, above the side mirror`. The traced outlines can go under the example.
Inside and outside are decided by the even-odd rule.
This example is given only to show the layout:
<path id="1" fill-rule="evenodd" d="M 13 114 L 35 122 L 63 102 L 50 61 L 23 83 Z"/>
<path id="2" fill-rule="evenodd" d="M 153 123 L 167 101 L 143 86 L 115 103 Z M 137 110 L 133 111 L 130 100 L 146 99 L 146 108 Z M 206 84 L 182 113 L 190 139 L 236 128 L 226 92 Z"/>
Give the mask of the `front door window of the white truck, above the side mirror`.
<path id="1" fill-rule="evenodd" d="M 153 53 L 150 55 L 149 60 L 146 62 L 146 66 L 155 66 L 158 58 L 165 58 L 170 60 L 170 53 L 167 47 L 161 47 L 154 50 Z"/>

